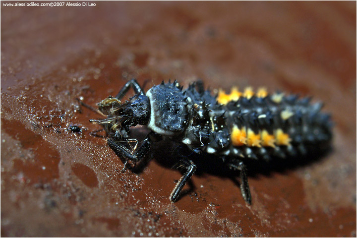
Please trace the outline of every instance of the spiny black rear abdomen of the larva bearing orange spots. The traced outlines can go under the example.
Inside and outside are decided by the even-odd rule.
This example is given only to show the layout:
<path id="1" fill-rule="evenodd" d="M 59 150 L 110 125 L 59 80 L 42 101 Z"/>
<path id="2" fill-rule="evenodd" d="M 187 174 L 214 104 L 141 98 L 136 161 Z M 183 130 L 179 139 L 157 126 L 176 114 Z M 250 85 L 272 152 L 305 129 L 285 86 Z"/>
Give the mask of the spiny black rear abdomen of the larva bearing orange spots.
<path id="1" fill-rule="evenodd" d="M 229 100 L 231 95 L 225 94 L 222 103 L 219 94 L 217 101 L 225 104 L 230 151 L 235 155 L 264 159 L 296 156 L 331 139 L 332 123 L 329 115 L 320 112 L 321 103 L 310 104 L 309 98 L 283 93 L 268 95 L 262 89 L 257 94 L 246 90 L 234 101 Z"/>

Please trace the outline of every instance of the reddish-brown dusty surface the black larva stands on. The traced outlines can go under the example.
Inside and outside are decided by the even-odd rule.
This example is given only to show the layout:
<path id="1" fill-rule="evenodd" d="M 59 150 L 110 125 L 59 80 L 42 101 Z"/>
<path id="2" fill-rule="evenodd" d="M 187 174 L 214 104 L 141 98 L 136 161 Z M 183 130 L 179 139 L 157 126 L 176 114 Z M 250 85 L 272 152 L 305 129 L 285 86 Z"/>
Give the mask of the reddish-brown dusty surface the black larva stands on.
<path id="1" fill-rule="evenodd" d="M 75 100 L 94 106 L 133 76 L 313 95 L 333 151 L 250 176 L 251 206 L 204 171 L 171 204 L 170 145 L 120 173 Z M 1 6 L 1 236 L 356 236 L 356 2 Z"/>

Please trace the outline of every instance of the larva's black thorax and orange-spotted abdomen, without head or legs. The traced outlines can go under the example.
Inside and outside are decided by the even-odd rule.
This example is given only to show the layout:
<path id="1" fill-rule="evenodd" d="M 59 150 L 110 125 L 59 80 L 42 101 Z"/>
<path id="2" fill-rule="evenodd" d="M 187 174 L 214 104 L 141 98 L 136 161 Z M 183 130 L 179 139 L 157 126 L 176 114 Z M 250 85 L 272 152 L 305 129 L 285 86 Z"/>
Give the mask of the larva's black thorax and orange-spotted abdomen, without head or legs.
<path id="1" fill-rule="evenodd" d="M 148 94 L 154 105 L 148 128 L 195 152 L 267 160 L 304 154 L 305 147 L 331 138 L 329 115 L 308 98 L 263 89 L 254 94 L 249 88 L 212 96 L 195 84 L 181 91 L 177 82 L 154 86 Z"/>

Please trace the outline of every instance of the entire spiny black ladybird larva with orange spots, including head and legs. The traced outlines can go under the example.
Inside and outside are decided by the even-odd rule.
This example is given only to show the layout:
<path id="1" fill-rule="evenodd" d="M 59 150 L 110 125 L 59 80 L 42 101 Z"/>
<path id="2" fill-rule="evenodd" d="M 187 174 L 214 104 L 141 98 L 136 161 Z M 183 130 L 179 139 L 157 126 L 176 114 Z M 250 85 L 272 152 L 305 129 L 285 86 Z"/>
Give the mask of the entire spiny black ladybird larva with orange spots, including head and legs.
<path id="1" fill-rule="evenodd" d="M 132 87 L 135 95 L 121 99 Z M 102 124 L 108 135 L 108 145 L 125 161 L 140 161 L 153 142 L 169 137 L 196 153 L 217 155 L 228 169 L 238 170 L 240 190 L 250 204 L 244 161 L 271 157 L 304 156 L 309 149 L 328 145 L 331 139 L 330 116 L 320 112 L 321 104 L 310 104 L 309 98 L 256 93 L 251 88 L 230 94 L 219 90 L 212 96 L 201 81 L 187 89 L 175 80 L 150 88 L 146 94 L 135 79 L 128 81 L 116 97 L 98 104 L 99 112 L 107 116 L 91 122 Z M 129 127 L 145 125 L 151 132 L 140 146 L 129 136 Z M 170 195 L 175 202 L 195 164 L 186 156 L 178 161 L 186 169 Z"/>

